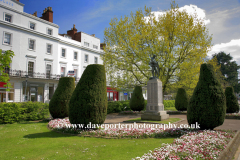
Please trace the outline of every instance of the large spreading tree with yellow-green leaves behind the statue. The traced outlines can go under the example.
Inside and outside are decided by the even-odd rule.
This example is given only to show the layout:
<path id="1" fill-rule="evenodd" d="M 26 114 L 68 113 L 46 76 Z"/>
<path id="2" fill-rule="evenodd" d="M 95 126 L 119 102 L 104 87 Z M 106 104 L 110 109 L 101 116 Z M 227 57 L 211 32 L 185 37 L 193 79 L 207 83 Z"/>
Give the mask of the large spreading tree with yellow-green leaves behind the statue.
<path id="1" fill-rule="evenodd" d="M 198 77 L 194 75 L 199 73 L 212 40 L 203 20 L 180 11 L 174 1 L 159 17 L 145 7 L 144 13 L 139 9 L 129 17 L 114 18 L 104 35 L 106 47 L 101 58 L 112 87 L 146 85 L 152 76 L 150 58 L 155 54 L 163 92 L 179 75 L 188 77 L 192 88 L 196 86 Z"/>

